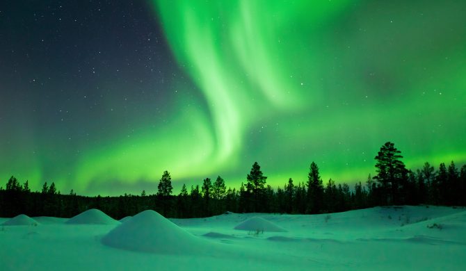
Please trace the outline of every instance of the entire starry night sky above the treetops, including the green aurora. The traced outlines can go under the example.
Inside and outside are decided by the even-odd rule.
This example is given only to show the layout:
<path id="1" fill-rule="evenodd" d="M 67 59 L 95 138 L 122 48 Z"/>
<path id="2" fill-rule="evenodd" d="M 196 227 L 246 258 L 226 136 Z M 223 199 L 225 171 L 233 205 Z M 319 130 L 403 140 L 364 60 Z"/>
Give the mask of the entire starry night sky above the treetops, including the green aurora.
<path id="1" fill-rule="evenodd" d="M 466 163 L 466 1 L 1 1 L 0 186 L 273 187 Z"/>

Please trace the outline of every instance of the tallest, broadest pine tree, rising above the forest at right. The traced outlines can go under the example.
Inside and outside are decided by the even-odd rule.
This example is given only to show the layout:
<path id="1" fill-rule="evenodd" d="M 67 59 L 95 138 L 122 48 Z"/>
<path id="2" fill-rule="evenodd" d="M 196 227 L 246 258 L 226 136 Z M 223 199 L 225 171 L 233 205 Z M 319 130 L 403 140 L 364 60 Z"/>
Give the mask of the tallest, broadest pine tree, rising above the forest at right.
<path id="1" fill-rule="evenodd" d="M 401 158 L 401 151 L 392 142 L 385 142 L 375 157 L 377 175 L 373 179 L 380 183 L 384 204 L 399 204 L 399 186 L 408 173 Z"/>

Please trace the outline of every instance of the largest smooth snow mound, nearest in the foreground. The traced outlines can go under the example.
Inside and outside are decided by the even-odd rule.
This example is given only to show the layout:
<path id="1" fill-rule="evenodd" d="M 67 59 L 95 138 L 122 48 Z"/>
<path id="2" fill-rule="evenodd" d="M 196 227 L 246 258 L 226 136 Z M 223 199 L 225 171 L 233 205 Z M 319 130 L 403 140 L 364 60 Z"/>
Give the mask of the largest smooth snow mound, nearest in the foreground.
<path id="1" fill-rule="evenodd" d="M 109 247 L 134 252 L 190 254 L 202 251 L 204 243 L 156 211 L 147 210 L 115 227 L 102 238 Z"/>

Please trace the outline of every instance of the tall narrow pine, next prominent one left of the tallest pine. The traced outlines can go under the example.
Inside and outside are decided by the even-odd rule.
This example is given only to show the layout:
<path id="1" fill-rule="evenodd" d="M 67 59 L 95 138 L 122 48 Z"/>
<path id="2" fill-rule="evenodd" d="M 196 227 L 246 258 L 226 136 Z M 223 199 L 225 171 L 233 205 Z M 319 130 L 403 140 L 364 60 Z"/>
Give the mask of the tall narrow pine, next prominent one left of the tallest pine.
<path id="1" fill-rule="evenodd" d="M 323 202 L 323 184 L 319 167 L 312 162 L 307 180 L 307 201 L 309 213 L 321 213 Z"/>

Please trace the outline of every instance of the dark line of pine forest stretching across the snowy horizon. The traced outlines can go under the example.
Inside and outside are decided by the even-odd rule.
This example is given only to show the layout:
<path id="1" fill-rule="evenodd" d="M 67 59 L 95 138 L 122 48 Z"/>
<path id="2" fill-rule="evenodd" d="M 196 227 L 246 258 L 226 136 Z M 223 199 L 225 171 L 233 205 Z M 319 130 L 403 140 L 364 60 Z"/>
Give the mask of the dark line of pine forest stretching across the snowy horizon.
<path id="1" fill-rule="evenodd" d="M 276 190 L 266 183 L 267 177 L 254 163 L 239 190 L 227 188 L 221 176 L 215 181 L 206 178 L 201 185 L 182 186 L 178 195 L 172 193 L 171 176 L 163 172 L 158 191 L 146 195 L 120 197 L 85 197 L 73 190 L 63 195 L 55 183 L 44 183 L 41 191 L 31 191 L 29 182 L 19 183 L 12 176 L 6 188 L 0 188 L 0 217 L 20 213 L 29 216 L 72 217 L 89 208 L 98 208 L 120 219 L 146 209 L 166 217 L 207 217 L 231 211 L 234 213 L 334 213 L 358 208 L 384 205 L 446 205 L 466 206 L 466 165 L 456 167 L 440 163 L 437 170 L 429 163 L 419 170 L 406 169 L 401 151 L 394 143 L 380 147 L 376 160 L 376 175 L 369 174 L 364 185 L 359 182 L 351 189 L 346 183 L 332 179 L 323 183 L 319 167 L 312 162 L 307 181 L 293 179 Z"/>

